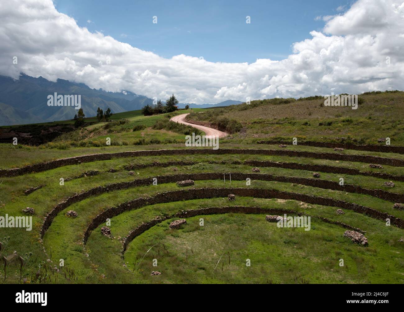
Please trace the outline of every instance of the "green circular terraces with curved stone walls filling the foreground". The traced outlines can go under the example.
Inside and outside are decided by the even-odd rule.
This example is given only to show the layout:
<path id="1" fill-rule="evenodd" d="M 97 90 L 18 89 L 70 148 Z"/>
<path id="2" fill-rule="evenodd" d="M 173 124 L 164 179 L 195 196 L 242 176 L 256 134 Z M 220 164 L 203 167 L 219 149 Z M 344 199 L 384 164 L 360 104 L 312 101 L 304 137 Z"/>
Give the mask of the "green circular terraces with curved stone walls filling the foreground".
<path id="1" fill-rule="evenodd" d="M 29 153 L 30 160 L 0 170 L 0 215 L 34 212 L 31 231 L 1 228 L 0 280 L 404 282 L 404 154 L 220 144 L 216 151 L 165 144 L 51 156 L 3 144 L 3 155 Z M 177 185 L 184 180 L 194 185 Z M 265 219 L 284 214 L 310 216 L 310 229 Z M 186 224 L 170 228 L 179 219 Z M 353 243 L 347 230 L 368 244 Z"/>

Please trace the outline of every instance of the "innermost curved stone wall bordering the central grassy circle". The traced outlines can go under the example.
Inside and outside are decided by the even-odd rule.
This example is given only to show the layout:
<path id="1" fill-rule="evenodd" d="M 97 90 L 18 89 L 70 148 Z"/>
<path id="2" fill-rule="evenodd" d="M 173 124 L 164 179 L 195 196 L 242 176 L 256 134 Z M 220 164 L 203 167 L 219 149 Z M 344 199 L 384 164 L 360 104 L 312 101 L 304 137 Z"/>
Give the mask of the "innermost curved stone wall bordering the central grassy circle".
<path id="1" fill-rule="evenodd" d="M 201 215 L 207 215 L 207 214 L 225 214 L 225 213 L 244 213 L 244 214 L 267 214 L 267 213 L 273 213 L 273 214 L 296 214 L 298 216 L 305 216 L 306 214 L 303 214 L 302 212 L 297 212 L 293 210 L 284 210 L 284 209 L 274 209 L 274 208 L 260 208 L 260 207 L 245 207 L 245 206 L 230 206 L 230 207 L 207 207 L 207 208 L 200 208 L 200 209 L 189 209 L 186 211 L 182 212 L 177 212 L 172 215 L 165 215 L 165 216 L 158 216 L 154 219 L 151 219 L 147 223 L 142 223 L 139 225 L 136 229 L 133 231 L 130 231 L 128 236 L 124 238 L 122 242 L 123 246 L 123 251 L 124 253 L 126 251 L 126 248 L 128 247 L 128 244 L 137 236 L 139 236 L 141 233 L 147 231 L 151 227 L 154 227 L 154 225 L 161 223 L 164 220 L 172 219 L 172 218 L 189 218 L 192 216 L 201 216 Z M 330 224 L 335 224 L 339 225 L 345 229 L 350 229 L 353 231 L 358 231 L 360 233 L 365 233 L 365 231 L 362 231 L 361 229 L 358 229 L 356 227 L 352 227 L 351 225 L 345 224 L 343 222 L 339 221 L 331 221 L 330 219 L 324 218 L 324 217 L 317 217 L 317 216 L 311 216 L 311 218 L 316 218 L 320 219 L 326 223 Z"/>

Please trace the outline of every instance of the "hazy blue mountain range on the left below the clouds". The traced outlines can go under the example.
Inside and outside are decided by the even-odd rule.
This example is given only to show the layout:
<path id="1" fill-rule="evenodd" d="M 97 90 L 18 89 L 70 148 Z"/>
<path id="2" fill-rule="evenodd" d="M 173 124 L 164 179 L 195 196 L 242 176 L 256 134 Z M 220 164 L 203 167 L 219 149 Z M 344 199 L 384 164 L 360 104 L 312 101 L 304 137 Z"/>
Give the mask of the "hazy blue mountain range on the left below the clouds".
<path id="1" fill-rule="evenodd" d="M 72 106 L 48 106 L 47 97 L 55 92 L 59 95 L 81 95 L 81 107 L 87 117 L 97 115 L 97 108 L 109 107 L 113 113 L 141 109 L 153 100 L 130 91 L 124 93 L 90 89 L 83 83 L 58 79 L 48 81 L 25 74 L 19 80 L 0 76 L 0 125 L 40 123 L 72 119 L 77 110 Z"/>

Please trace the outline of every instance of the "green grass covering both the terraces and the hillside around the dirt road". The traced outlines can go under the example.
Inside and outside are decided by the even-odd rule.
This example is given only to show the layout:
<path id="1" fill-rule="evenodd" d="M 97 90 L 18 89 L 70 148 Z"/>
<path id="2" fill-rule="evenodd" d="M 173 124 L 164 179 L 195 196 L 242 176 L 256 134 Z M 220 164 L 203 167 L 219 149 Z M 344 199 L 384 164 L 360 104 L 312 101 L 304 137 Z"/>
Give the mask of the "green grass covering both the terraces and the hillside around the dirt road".
<path id="1" fill-rule="evenodd" d="M 291 139 L 295 136 L 332 142 L 336 137 L 350 136 L 354 139 L 352 142 L 377 144 L 378 138 L 389 136 L 392 145 L 403 146 L 403 93 L 369 93 L 363 98 L 364 102 L 353 113 L 351 110 L 343 112 L 344 108 L 320 107 L 323 100 L 318 98 L 290 100 L 288 103 L 264 100 L 253 101 L 248 107 L 241 104 L 194 109 L 198 120 L 206 123 L 213 120 L 210 120 L 212 114 L 215 118 L 225 116 L 240 121 L 243 129 L 221 139 L 219 151 L 250 149 L 249 153 L 232 151 L 231 154 L 219 154 L 210 148 L 205 154 L 181 155 L 182 150 L 188 149 L 184 144 L 185 132 L 194 130 L 168 125 L 173 113 L 145 117 L 139 111 L 113 115 L 112 122 L 94 122 L 39 146 L 0 144 L 1 170 L 95 153 L 179 151 L 172 155 L 112 157 L 12 177 L 0 176 L 0 216 L 26 216 L 22 209 L 34 208 L 31 231 L 23 227 L 0 228 L 1 282 L 403 284 L 404 243 L 401 238 L 404 237 L 404 210 L 393 208 L 396 202 L 380 195 L 384 191 L 404 198 L 403 167 L 383 164 L 383 168 L 370 168 L 367 162 L 348 161 L 342 157 L 369 155 L 403 160 L 404 154 L 355 149 L 334 151 L 299 144 L 282 148 L 256 143 L 259 139 Z M 386 107 L 382 109 L 380 106 Z M 302 114 L 291 116 L 289 110 L 296 109 Z M 174 114 L 185 112 L 190 110 Z M 309 125 L 303 125 L 306 121 Z M 319 125 L 322 122 L 327 125 Z M 156 126 L 158 124 L 164 127 L 160 129 Z M 387 125 L 390 127 L 385 127 Z M 105 144 L 107 138 L 111 139 L 111 145 Z M 252 151 L 257 149 L 286 149 L 301 154 L 299 157 L 259 155 Z M 305 156 L 304 152 L 338 156 L 337 160 L 312 158 Z M 252 165 L 251 161 L 262 165 Z M 291 164 L 299 165 L 299 168 L 288 168 Z M 320 177 L 314 178 L 314 170 L 309 170 L 309 166 L 323 166 L 318 168 L 324 168 L 324 171 L 316 170 Z M 259 167 L 259 174 L 263 177 L 271 175 L 272 178 L 252 178 L 250 184 L 244 179 L 230 181 L 229 174 L 233 177 L 252 174 L 253 167 Z M 352 170 L 357 171 L 352 174 Z M 207 178 L 195 180 L 194 185 L 187 187 L 175 183 L 179 181 L 175 175 L 198 173 L 205 173 Z M 395 179 L 372 176 L 377 173 L 390 174 Z M 211 178 L 215 174 L 220 178 Z M 173 176 L 173 180 L 164 180 L 168 176 Z M 148 182 L 153 178 L 157 178 L 157 185 Z M 283 182 L 282 179 L 286 178 L 308 180 Z M 353 185 L 356 189 L 347 191 L 310 185 L 312 180 L 339 183 L 341 178 L 345 186 Z M 143 182 L 133 184 L 133 181 L 140 180 Z M 385 185 L 389 181 L 394 187 Z M 120 187 L 115 188 L 114 183 L 120 183 Z M 25 195 L 25 191 L 33 187 L 40 188 Z M 229 201 L 227 193 L 213 196 L 209 191 L 223 188 L 234 190 L 236 200 Z M 277 194 L 292 195 L 291 199 L 280 198 L 282 196 L 266 198 L 257 194 L 252 197 L 237 195 L 237 189 L 259 189 L 262 193 L 273 190 Z M 370 193 L 360 193 L 361 189 Z M 88 194 L 88 190 L 98 191 Z M 172 193 L 168 192 L 179 190 L 183 190 L 181 194 L 186 198 L 175 200 L 170 197 Z M 203 193 L 203 198 L 197 198 L 197 192 L 206 192 L 206 195 Z M 299 200 L 307 195 L 315 201 L 328 198 L 329 204 Z M 41 236 L 41 227 L 48 213 L 73 196 L 78 196 L 77 200 L 58 210 Z M 337 201 L 341 201 L 339 206 L 335 204 Z M 133 202 L 141 204 L 131 206 Z M 398 225 L 389 224 L 384 217 L 351 209 L 352 204 L 372 209 L 389 219 L 399 218 Z M 118 206 L 123 207 L 122 211 L 111 214 L 109 220 L 97 219 L 101 213 L 109 216 L 109 212 Z M 259 211 L 245 214 L 231 208 L 234 211 L 223 214 L 191 216 L 191 211 L 198 209 L 234 206 L 257 207 Z M 337 213 L 339 208 L 344 214 Z M 66 216 L 69 210 L 74 210 L 77 217 Z M 310 216 L 310 230 L 280 228 L 265 220 L 267 214 L 278 210 L 288 211 L 291 216 Z M 187 211 L 189 217 L 186 214 L 179 217 Z M 179 229 L 169 228 L 170 222 L 183 218 L 187 220 L 185 225 Z M 201 219 L 203 225 L 200 225 Z M 160 221 L 125 243 L 131 231 L 153 220 Z M 109 227 L 111 235 L 101 233 L 104 226 Z M 368 246 L 355 244 L 344 237 L 348 227 L 363 231 Z M 250 266 L 246 265 L 247 259 Z M 161 274 L 152 276 L 152 271 Z"/>

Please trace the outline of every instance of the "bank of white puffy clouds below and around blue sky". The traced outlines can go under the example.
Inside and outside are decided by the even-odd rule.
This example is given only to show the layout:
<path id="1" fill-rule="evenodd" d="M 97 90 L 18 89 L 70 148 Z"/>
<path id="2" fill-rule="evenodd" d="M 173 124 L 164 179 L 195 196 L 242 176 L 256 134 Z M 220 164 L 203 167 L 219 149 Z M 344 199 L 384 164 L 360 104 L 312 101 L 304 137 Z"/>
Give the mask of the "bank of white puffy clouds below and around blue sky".
<path id="1" fill-rule="evenodd" d="M 184 54 L 167 59 L 79 27 L 51 0 L 9 0 L 0 6 L 0 74 L 61 78 L 149 98 L 175 93 L 181 102 L 200 104 L 402 89 L 401 1 L 358 0 L 345 13 L 323 18 L 324 30 L 295 42 L 287 58 L 248 64 Z"/>

